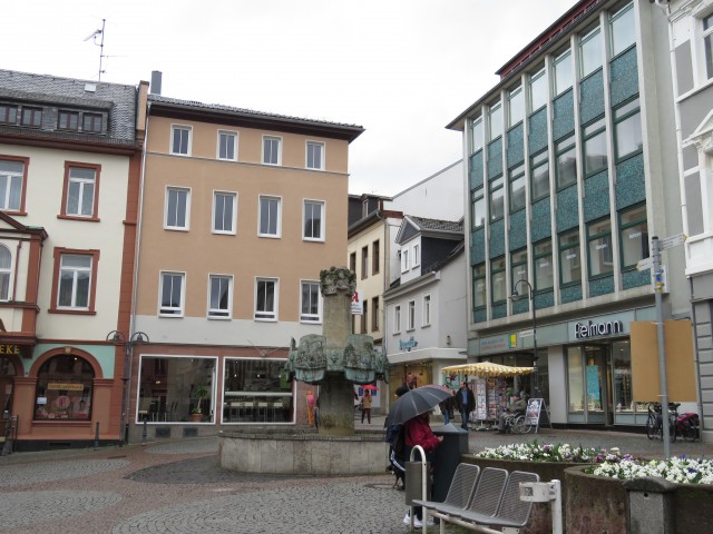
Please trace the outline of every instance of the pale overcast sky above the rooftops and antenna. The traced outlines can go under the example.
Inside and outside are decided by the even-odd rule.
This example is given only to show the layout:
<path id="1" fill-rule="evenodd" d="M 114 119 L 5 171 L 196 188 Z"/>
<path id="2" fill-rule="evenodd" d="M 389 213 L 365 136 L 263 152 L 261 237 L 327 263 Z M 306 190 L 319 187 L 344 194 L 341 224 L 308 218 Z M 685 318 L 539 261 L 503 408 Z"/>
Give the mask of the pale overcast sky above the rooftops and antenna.
<path id="1" fill-rule="evenodd" d="M 576 0 L 46 0 L 2 8 L 0 68 L 163 72 L 166 97 L 365 128 L 350 192 L 394 195 L 461 157 L 445 126 Z M 96 39 L 98 44 L 100 39 Z"/>

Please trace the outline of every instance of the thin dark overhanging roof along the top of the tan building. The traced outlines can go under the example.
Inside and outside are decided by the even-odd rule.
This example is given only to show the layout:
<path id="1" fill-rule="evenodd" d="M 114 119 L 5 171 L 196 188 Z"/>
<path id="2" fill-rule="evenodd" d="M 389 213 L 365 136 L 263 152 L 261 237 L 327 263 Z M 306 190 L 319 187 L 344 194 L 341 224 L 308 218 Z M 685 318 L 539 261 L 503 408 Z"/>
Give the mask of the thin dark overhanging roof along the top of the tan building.
<path id="1" fill-rule="evenodd" d="M 323 129 L 325 130 L 325 132 L 333 131 L 338 134 L 334 137 L 348 139 L 350 142 L 356 139 L 356 137 L 359 137 L 364 131 L 363 127 L 356 125 L 331 122 L 328 120 L 319 119 L 305 119 L 300 117 L 292 117 L 289 115 L 268 113 L 265 111 L 255 111 L 253 109 L 237 108 L 233 106 L 225 106 L 222 103 L 204 103 L 197 100 L 182 100 L 178 98 L 164 97 L 163 95 L 149 93 L 148 100 L 152 103 L 174 107 L 176 109 L 192 110 L 198 113 L 217 112 L 224 116 L 233 116 L 252 121 L 274 121 L 291 127 Z"/>

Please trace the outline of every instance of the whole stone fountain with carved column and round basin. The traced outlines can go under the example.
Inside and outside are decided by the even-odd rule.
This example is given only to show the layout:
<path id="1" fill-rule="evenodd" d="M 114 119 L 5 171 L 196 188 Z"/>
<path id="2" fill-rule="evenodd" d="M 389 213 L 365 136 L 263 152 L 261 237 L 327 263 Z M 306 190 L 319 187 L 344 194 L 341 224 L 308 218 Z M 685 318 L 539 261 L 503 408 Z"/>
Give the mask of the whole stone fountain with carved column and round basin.
<path id="1" fill-rule="evenodd" d="M 388 379 L 389 363 L 374 352 L 371 336 L 350 334 L 354 273 L 332 267 L 320 273 L 324 297 L 322 335 L 294 339 L 285 370 L 320 386 L 319 433 L 265 426 L 221 435 L 224 468 L 246 473 L 356 475 L 383 472 L 388 446 L 382 433 L 354 431 L 353 384 Z"/>

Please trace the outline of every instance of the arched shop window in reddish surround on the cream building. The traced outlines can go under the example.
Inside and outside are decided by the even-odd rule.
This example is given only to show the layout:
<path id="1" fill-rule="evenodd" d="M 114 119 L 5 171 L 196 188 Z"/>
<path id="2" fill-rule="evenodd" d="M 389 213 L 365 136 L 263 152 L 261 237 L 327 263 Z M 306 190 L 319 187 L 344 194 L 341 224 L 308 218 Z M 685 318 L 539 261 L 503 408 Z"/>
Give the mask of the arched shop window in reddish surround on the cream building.
<path id="1" fill-rule="evenodd" d="M 94 369 L 72 354 L 49 358 L 37 373 L 35 419 L 90 419 Z"/>

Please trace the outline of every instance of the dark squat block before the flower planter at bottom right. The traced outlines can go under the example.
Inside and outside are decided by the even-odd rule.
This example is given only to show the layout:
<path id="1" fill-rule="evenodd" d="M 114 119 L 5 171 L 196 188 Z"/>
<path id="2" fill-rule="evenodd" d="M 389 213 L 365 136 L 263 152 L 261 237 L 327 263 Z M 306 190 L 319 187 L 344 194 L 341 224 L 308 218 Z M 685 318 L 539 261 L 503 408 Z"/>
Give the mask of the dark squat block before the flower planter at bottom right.
<path id="1" fill-rule="evenodd" d="M 663 478 L 636 478 L 626 481 L 624 488 L 627 534 L 674 534 L 675 484 Z"/>

